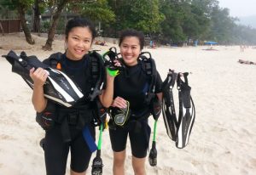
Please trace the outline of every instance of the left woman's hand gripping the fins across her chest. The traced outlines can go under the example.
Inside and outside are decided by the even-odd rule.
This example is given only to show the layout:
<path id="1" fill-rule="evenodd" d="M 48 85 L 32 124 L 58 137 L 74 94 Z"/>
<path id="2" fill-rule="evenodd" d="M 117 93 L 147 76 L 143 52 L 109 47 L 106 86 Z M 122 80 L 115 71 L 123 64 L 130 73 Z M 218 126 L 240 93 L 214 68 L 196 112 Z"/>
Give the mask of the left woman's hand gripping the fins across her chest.
<path id="1" fill-rule="evenodd" d="M 35 68 L 32 68 L 29 71 L 29 76 L 32 78 L 32 81 L 34 82 L 34 87 L 43 87 L 44 83 L 46 82 L 48 72 L 40 67 L 37 70 L 35 70 Z"/>

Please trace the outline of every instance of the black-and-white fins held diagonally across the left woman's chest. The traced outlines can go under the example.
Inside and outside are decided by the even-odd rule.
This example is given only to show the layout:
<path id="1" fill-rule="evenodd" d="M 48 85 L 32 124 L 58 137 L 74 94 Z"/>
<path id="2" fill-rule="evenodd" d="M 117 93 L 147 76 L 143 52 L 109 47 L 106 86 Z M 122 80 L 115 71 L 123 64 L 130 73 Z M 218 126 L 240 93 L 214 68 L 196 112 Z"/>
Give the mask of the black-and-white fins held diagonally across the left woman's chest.
<path id="1" fill-rule="evenodd" d="M 49 65 L 45 65 L 36 56 L 27 57 L 25 52 L 22 52 L 18 56 L 11 50 L 9 54 L 3 55 L 3 57 L 12 65 L 12 71 L 19 74 L 30 88 L 33 88 L 33 82 L 29 76 L 29 71 L 33 67 L 35 69 L 41 67 L 47 71 L 48 77 L 44 84 L 44 97 L 57 104 L 71 107 L 84 96 L 81 90 L 66 74 L 52 69 Z"/>

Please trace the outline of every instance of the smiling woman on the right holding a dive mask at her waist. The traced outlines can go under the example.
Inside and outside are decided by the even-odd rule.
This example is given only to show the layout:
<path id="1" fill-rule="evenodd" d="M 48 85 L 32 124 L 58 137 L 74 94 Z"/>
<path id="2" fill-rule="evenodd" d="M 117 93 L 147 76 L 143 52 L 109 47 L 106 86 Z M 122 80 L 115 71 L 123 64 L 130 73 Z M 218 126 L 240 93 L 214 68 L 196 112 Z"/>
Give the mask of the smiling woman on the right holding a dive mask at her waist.
<path id="1" fill-rule="evenodd" d="M 131 143 L 131 164 L 134 174 L 146 174 L 145 161 L 151 130 L 148 126 L 148 117 L 154 116 L 152 114 L 154 99 L 156 104 L 160 106 L 162 81 L 154 67 L 155 65 L 148 65 L 148 62 L 143 62 L 145 59 L 141 55 L 143 47 L 143 32 L 128 29 L 120 33 L 121 58 L 119 61 L 124 65 L 124 69 L 113 81 L 113 104 L 110 108 L 110 120 L 108 122 L 113 149 L 113 175 L 125 174 L 128 135 Z M 150 59 L 152 59 L 151 54 Z M 148 75 L 150 74 L 148 72 L 152 72 L 152 75 Z M 153 74 L 154 78 L 152 77 Z M 153 79 L 155 81 L 149 81 Z M 151 87 L 154 87 L 153 92 L 150 90 Z M 148 93 L 153 94 L 154 97 L 150 97 Z"/>

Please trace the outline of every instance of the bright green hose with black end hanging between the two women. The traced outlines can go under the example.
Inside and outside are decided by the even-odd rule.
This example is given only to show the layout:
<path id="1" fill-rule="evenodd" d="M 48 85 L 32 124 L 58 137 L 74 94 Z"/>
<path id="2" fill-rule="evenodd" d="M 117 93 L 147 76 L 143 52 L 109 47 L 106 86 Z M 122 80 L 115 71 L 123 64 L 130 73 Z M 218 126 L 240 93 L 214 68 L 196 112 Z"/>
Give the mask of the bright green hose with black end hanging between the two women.
<path id="1" fill-rule="evenodd" d="M 92 161 L 92 166 L 91 166 L 92 175 L 102 175 L 102 168 L 103 168 L 102 157 L 101 157 L 102 131 L 103 131 L 103 123 L 101 124 L 101 127 L 100 127 L 100 135 L 99 135 L 99 140 L 97 145 L 96 157 Z"/>

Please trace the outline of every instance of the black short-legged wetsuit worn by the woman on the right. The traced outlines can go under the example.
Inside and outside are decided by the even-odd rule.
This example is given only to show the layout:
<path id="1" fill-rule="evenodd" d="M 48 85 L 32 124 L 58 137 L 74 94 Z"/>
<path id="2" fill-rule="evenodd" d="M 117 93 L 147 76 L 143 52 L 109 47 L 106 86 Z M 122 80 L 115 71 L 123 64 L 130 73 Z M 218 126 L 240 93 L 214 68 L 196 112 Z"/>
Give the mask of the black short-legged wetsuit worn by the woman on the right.
<path id="1" fill-rule="evenodd" d="M 148 116 L 150 116 L 149 105 L 145 103 L 146 92 L 149 87 L 149 76 L 143 71 L 142 63 L 127 66 L 119 76 L 114 79 L 113 99 L 121 97 L 130 102 L 131 117 L 125 127 L 109 129 L 112 149 L 116 152 L 125 150 L 127 136 L 129 133 L 132 155 L 143 158 L 147 155 L 150 127 Z M 161 78 L 157 72 L 155 93 L 161 92 Z"/>

